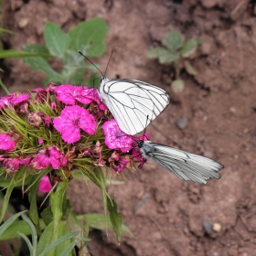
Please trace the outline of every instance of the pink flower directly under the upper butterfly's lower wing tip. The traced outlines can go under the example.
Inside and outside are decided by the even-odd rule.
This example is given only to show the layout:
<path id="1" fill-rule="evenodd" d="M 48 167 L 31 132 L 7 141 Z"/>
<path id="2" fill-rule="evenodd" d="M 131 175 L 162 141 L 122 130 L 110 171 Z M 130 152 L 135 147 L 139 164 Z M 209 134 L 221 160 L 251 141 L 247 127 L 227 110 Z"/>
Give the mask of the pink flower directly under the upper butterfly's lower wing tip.
<path id="1" fill-rule="evenodd" d="M 105 134 L 105 144 L 111 149 L 121 149 L 128 152 L 132 149 L 133 139 L 120 130 L 115 120 L 107 121 L 102 125 Z"/>

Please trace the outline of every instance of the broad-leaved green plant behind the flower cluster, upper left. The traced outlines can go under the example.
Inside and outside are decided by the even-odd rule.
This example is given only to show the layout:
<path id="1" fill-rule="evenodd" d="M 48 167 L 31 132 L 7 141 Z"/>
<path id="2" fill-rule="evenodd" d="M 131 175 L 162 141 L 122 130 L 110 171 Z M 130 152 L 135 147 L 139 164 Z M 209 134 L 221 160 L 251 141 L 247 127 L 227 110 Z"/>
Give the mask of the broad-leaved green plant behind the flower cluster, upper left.
<path id="1" fill-rule="evenodd" d="M 32 69 L 41 70 L 46 74 L 47 83 L 52 80 L 62 84 L 92 85 L 93 79 L 84 80 L 83 74 L 94 70 L 95 67 L 86 64 L 78 51 L 88 57 L 101 57 L 106 50 L 104 39 L 107 30 L 106 22 L 101 18 L 81 22 L 78 26 L 70 28 L 68 33 L 64 33 L 55 23 L 48 22 L 43 33 L 46 46 L 32 44 L 27 45 L 24 51 L 0 50 L 0 59 L 23 58 L 24 63 Z M 52 69 L 48 62 L 50 58 L 61 59 L 60 72 Z"/>

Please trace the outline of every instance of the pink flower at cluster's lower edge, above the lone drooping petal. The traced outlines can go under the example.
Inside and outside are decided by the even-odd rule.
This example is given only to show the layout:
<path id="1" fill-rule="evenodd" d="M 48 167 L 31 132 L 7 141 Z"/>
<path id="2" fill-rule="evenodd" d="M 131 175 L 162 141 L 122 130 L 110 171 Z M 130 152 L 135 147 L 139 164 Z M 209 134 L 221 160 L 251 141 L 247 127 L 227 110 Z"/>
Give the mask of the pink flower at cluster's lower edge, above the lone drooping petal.
<path id="1" fill-rule="evenodd" d="M 52 166 L 53 169 L 59 169 L 61 166 L 67 165 L 67 158 L 56 145 L 52 145 L 39 150 L 31 164 L 37 170 L 46 169 L 49 166 Z"/>

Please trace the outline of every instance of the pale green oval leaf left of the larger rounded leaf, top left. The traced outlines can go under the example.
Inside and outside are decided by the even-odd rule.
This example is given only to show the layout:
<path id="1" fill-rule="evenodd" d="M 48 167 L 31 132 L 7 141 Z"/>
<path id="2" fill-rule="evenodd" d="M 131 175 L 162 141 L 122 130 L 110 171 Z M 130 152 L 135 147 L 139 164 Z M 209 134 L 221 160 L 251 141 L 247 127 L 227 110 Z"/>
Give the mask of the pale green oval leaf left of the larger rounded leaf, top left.
<path id="1" fill-rule="evenodd" d="M 63 59 L 70 46 L 69 35 L 62 32 L 57 24 L 48 22 L 44 28 L 44 38 L 49 52 L 59 59 Z"/>

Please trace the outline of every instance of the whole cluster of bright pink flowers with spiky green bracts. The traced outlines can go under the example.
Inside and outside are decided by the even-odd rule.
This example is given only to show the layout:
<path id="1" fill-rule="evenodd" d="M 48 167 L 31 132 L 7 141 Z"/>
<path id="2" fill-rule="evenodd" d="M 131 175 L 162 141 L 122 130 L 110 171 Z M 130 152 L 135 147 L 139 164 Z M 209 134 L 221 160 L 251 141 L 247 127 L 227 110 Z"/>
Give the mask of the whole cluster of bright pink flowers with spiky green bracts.
<path id="1" fill-rule="evenodd" d="M 7 110 L 16 112 L 23 121 L 16 123 L 15 119 L 10 126 Z M 0 164 L 7 174 L 26 166 L 49 172 L 64 169 L 70 174 L 84 158 L 92 166 L 109 166 L 116 174 L 124 168 L 131 169 L 134 161 L 143 165 L 136 140 L 145 136 L 135 138 L 123 133 L 106 110 L 98 91 L 86 86 L 51 83 L 46 90 L 37 88 L 30 93 L 2 97 Z M 24 121 L 28 128 L 20 127 Z M 9 128 L 1 130 L 1 127 Z M 29 127 L 33 133 L 27 133 Z M 39 189 L 42 192 L 51 189 L 48 176 L 42 179 Z"/>

